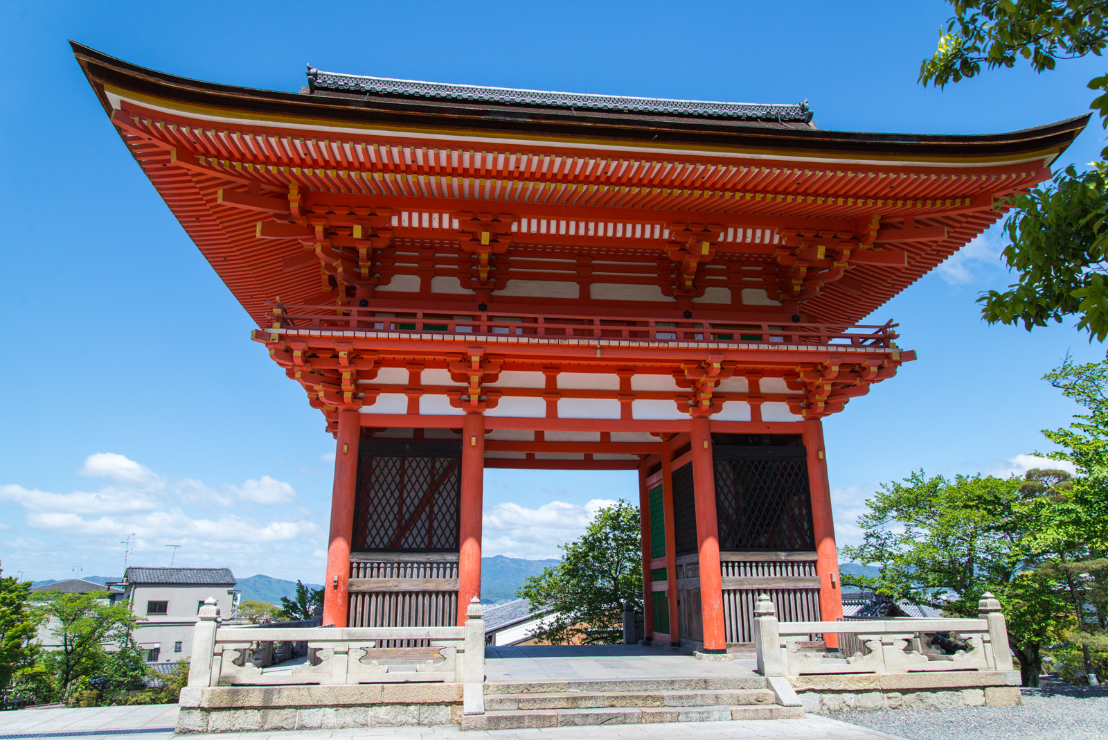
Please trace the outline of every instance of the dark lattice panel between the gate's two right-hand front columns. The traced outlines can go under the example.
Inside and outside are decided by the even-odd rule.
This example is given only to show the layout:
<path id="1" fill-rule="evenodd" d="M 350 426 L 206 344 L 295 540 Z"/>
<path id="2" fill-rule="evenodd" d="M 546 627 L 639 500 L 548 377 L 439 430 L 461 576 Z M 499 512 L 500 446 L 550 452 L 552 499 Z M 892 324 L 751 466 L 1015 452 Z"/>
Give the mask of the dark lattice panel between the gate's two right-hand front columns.
<path id="1" fill-rule="evenodd" d="M 814 549 L 803 449 L 717 449 L 716 515 L 721 551 Z"/>

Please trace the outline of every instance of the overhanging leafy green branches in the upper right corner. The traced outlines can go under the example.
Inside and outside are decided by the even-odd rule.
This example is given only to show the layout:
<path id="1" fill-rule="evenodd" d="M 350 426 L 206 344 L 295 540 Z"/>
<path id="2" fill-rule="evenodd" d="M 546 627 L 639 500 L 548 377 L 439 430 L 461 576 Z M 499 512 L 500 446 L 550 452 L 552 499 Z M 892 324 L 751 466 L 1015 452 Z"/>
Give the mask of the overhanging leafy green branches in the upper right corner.
<path id="1" fill-rule="evenodd" d="M 938 48 L 920 68 L 920 82 L 944 86 L 1020 59 L 1036 72 L 1059 59 L 1100 55 L 1108 43 L 1108 3 L 1102 0 L 948 0 L 954 8 Z M 1090 107 L 1108 125 L 1108 75 L 1089 82 L 1101 91 Z M 1108 336 L 1108 150 L 1092 168 L 1070 166 L 1046 187 L 1010 198 L 1005 223 L 1012 244 L 1004 259 L 1017 274 L 1005 291 L 978 298 L 989 323 L 1034 327 L 1078 317 L 1077 327 Z"/>

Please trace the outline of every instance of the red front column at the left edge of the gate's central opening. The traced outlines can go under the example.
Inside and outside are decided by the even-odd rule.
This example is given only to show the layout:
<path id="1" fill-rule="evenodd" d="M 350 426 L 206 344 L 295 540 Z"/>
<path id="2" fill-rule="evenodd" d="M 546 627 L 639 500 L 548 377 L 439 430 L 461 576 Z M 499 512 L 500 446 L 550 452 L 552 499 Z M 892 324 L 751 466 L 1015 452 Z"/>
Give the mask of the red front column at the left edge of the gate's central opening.
<path id="1" fill-rule="evenodd" d="M 481 597 L 481 506 L 484 483 L 484 417 L 468 413 L 462 421 L 462 500 L 458 524 L 458 624 L 465 608 Z"/>

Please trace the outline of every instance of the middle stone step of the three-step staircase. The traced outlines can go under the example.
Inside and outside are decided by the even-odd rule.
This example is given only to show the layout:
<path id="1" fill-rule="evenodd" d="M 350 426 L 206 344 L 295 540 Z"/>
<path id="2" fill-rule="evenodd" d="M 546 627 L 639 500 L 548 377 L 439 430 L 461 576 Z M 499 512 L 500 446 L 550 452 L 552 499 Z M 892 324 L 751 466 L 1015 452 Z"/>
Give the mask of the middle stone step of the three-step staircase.
<path id="1" fill-rule="evenodd" d="M 772 705 L 769 689 L 705 691 L 557 691 L 485 695 L 485 710 L 599 709 Z"/>

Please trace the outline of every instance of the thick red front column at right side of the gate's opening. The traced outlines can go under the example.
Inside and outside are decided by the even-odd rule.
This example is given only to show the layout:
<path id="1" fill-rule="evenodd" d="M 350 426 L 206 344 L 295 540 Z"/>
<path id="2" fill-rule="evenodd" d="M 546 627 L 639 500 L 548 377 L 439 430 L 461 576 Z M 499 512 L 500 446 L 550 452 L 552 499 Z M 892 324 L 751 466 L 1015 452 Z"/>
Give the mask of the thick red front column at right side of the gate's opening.
<path id="1" fill-rule="evenodd" d="M 719 568 L 719 522 L 716 518 L 716 471 L 711 462 L 711 424 L 707 417 L 693 418 L 691 450 L 704 649 L 724 651 L 727 638 L 724 635 L 724 588 Z"/>

